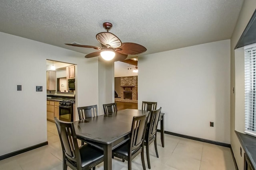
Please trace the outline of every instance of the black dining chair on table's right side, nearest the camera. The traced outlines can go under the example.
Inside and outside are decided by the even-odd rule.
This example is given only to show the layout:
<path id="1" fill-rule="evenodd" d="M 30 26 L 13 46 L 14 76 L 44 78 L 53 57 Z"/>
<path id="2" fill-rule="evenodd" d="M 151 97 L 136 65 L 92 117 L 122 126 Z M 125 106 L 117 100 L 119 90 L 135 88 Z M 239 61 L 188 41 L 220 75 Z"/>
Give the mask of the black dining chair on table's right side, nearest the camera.
<path id="1" fill-rule="evenodd" d="M 141 155 L 143 170 L 146 170 L 144 160 L 144 137 L 148 121 L 147 116 L 148 114 L 134 116 L 129 141 L 112 150 L 112 158 L 116 156 L 121 158 L 123 162 L 124 160 L 128 161 L 128 170 L 132 169 L 132 159 L 138 154 Z"/>

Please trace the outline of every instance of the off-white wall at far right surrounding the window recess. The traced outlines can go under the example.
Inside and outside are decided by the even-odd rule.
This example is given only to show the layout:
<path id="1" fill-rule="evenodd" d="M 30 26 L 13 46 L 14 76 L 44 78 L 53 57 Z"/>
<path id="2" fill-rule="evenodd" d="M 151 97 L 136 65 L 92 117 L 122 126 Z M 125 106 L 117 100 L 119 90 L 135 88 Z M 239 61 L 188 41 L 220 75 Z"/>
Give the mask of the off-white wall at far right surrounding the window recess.
<path id="1" fill-rule="evenodd" d="M 239 111 L 238 109 L 242 110 L 244 106 L 242 96 L 240 96 L 237 93 L 242 93 L 244 89 L 241 86 L 241 84 L 238 83 L 239 80 L 237 78 L 238 75 L 242 75 L 244 71 L 241 71 L 241 67 L 244 62 L 241 62 L 242 55 L 239 52 L 239 49 L 236 50 L 236 55 L 234 51 L 234 47 L 236 43 L 238 42 L 238 39 L 242 35 L 247 23 L 249 22 L 250 18 L 252 17 L 252 14 L 254 13 L 254 10 L 256 9 L 256 1 L 255 0 L 244 0 L 244 4 L 242 6 L 242 9 L 240 11 L 238 21 L 236 23 L 236 27 L 233 31 L 231 40 L 230 40 L 230 47 L 231 47 L 231 55 L 230 55 L 230 63 L 231 63 L 231 78 L 230 78 L 230 89 L 232 90 L 235 87 L 235 94 L 231 92 L 230 94 L 230 139 L 231 139 L 231 147 L 234 152 L 234 157 L 236 158 L 236 163 L 238 165 L 239 170 L 244 169 L 244 154 L 240 156 L 240 142 L 236 136 L 235 129 L 238 131 L 242 131 L 242 124 L 244 124 L 244 111 Z M 240 56 L 238 56 L 238 55 Z M 236 56 L 236 57 L 235 57 Z M 236 63 L 236 64 L 235 64 Z M 239 64 L 241 64 L 239 66 Z M 236 65 L 236 66 L 235 66 Z M 240 71 L 239 71 L 240 70 Z M 240 77 L 240 80 L 242 81 L 242 78 Z M 244 80 L 243 82 L 244 83 Z M 240 102 L 239 102 L 240 101 Z M 242 106 L 242 107 L 241 107 Z M 238 108 L 237 108 L 238 107 Z M 239 108 L 241 107 L 241 108 Z M 236 111 L 235 111 L 236 109 Z M 244 152 L 243 152 L 244 153 Z"/>

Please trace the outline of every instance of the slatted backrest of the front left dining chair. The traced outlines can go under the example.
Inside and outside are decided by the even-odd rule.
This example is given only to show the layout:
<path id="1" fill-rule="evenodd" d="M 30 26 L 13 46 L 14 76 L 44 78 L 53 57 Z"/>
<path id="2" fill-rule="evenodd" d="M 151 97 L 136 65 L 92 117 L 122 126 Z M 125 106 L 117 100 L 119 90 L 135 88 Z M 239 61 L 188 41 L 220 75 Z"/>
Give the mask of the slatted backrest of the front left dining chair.
<path id="1" fill-rule="evenodd" d="M 69 161 L 75 162 L 78 167 L 81 166 L 81 156 L 73 122 L 60 121 L 56 117 L 54 117 L 54 121 L 57 125 L 63 154 Z"/>

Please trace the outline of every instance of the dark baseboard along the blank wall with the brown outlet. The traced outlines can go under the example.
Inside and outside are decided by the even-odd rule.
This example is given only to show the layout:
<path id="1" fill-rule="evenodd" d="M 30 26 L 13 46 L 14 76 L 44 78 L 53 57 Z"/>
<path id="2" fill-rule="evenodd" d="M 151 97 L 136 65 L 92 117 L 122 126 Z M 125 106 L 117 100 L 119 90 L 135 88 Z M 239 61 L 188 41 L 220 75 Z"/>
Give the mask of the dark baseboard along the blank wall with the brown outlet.
<path id="1" fill-rule="evenodd" d="M 160 132 L 160 130 L 157 130 L 157 131 Z M 201 141 L 201 142 L 211 143 L 211 144 L 219 145 L 219 146 L 222 146 L 222 147 L 228 147 L 228 148 L 231 147 L 231 145 L 228 144 L 228 143 L 222 143 L 222 142 L 217 142 L 217 141 L 211 141 L 211 140 L 208 140 L 208 139 L 202 139 L 202 138 L 199 138 L 199 137 L 192 137 L 192 136 L 188 136 L 188 135 L 182 135 L 182 134 L 179 134 L 179 133 L 174 133 L 174 132 L 169 132 L 169 131 L 164 131 L 164 133 L 166 133 L 166 134 L 168 134 L 168 135 L 174 135 L 174 136 L 178 136 L 178 137 L 183 137 L 183 138 L 187 138 L 187 139 L 192 139 L 192 140 L 195 140 L 195 141 Z"/>

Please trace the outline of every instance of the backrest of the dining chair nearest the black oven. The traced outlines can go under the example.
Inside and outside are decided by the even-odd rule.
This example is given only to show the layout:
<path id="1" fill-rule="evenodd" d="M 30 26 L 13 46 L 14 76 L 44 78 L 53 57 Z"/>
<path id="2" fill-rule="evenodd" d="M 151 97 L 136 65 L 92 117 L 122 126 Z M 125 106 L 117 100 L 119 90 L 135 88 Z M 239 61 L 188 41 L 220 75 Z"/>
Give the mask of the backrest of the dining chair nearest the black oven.
<path id="1" fill-rule="evenodd" d="M 77 107 L 79 120 L 86 119 L 89 117 L 98 116 L 98 107 L 97 105 Z"/>

